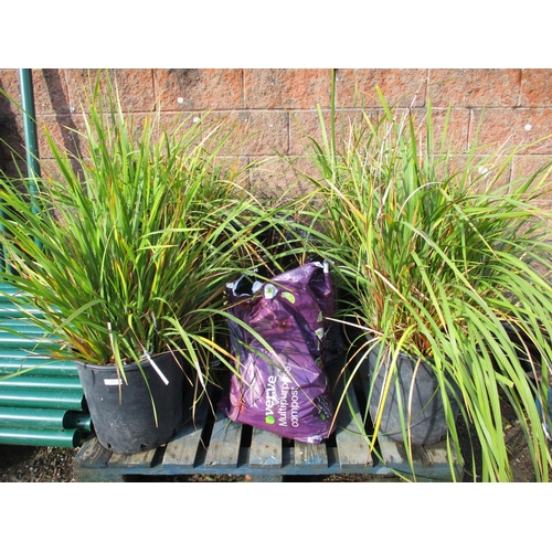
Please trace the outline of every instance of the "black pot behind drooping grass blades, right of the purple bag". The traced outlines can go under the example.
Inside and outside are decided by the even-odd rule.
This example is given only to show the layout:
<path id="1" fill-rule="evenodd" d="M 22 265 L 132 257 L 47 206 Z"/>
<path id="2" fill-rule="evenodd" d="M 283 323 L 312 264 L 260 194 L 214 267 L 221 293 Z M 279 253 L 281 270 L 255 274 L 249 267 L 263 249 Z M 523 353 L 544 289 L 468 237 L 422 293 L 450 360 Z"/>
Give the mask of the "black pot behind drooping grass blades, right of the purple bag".
<path id="1" fill-rule="evenodd" d="M 369 404 L 372 421 L 375 423 L 381 407 L 383 414 L 380 432 L 391 439 L 404 440 L 402 429 L 404 425 L 410 429 L 407 435 L 413 445 L 429 445 L 443 440 L 447 433 L 447 421 L 438 381 L 432 365 L 426 362 L 418 363 L 417 359 L 400 353 L 396 365 L 391 372 L 391 355 L 384 352 L 378 362 L 379 349 L 380 346 L 372 349 L 364 361 L 368 363 L 370 382 L 373 384 Z M 388 378 L 391 378 L 388 395 L 380 406 L 380 397 Z M 412 403 L 408 411 L 411 393 Z M 456 417 L 459 413 L 458 404 L 452 392 L 447 394 Z"/>

